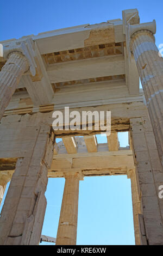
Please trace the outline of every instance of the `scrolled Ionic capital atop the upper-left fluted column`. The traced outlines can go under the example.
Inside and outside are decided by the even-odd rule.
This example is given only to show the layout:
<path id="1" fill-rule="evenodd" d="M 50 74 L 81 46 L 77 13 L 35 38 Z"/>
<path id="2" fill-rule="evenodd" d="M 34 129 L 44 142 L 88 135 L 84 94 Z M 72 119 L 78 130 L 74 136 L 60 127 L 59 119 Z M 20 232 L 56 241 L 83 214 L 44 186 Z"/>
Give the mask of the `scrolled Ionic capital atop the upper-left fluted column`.
<path id="1" fill-rule="evenodd" d="M 21 41 L 12 41 L 9 44 L 3 45 L 3 58 L 9 60 L 12 54 L 20 54 L 20 56 L 25 57 L 27 59 L 27 72 L 30 71 L 32 76 L 36 75 L 36 62 L 35 62 L 35 50 L 34 50 L 34 41 L 32 38 L 28 38 L 26 40 Z M 14 63 L 15 64 L 15 63 Z"/>

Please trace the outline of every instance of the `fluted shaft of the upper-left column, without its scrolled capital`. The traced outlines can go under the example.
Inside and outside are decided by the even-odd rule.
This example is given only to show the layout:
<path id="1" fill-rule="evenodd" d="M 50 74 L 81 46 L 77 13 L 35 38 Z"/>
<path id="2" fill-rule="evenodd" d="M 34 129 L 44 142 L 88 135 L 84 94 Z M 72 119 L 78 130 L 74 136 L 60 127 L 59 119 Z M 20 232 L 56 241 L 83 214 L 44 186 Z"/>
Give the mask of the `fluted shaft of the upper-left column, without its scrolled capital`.
<path id="1" fill-rule="evenodd" d="M 21 52 L 12 52 L 0 72 L 0 120 L 14 94 L 21 76 L 29 68 L 27 58 Z"/>

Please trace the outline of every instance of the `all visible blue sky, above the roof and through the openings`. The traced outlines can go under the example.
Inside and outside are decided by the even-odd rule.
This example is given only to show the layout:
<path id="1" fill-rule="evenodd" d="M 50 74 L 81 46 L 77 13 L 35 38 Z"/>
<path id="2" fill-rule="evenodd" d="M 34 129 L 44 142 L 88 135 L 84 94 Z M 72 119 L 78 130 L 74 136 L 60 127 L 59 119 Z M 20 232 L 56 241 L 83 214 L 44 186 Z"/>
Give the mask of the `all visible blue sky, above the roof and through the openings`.
<path id="1" fill-rule="evenodd" d="M 122 18 L 122 10 L 137 8 L 140 22 L 156 20 L 156 45 L 163 43 L 162 0 L 137 1 L 1 1 L 0 41 L 54 29 Z M 98 136 L 98 142 L 105 138 Z M 122 147 L 127 133 L 119 135 Z M 49 179 L 42 234 L 56 237 L 64 179 Z M 1 209 L 1 208 L 0 208 Z M 78 245 L 134 245 L 130 180 L 126 176 L 92 177 L 80 181 Z"/>

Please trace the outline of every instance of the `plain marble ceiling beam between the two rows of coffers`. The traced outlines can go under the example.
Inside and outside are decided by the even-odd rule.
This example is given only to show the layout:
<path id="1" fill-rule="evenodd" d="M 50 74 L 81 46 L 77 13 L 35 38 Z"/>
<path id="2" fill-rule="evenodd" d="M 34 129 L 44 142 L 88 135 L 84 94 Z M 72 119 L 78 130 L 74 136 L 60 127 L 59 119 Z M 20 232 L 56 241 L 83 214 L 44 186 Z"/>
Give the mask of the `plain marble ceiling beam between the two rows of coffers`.
<path id="1" fill-rule="evenodd" d="M 122 54 L 118 54 L 116 56 L 104 56 L 57 63 L 48 66 L 47 73 L 51 83 L 123 75 L 125 74 L 124 57 Z"/>

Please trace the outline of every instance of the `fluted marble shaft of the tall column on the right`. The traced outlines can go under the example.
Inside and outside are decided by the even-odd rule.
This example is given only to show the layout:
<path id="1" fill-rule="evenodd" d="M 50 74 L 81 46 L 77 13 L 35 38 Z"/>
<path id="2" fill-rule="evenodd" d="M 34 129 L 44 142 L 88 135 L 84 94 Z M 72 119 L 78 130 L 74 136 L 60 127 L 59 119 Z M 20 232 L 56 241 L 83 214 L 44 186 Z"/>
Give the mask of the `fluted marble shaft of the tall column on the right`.
<path id="1" fill-rule="evenodd" d="M 163 58 L 159 56 L 150 31 L 142 30 L 131 35 L 130 46 L 141 78 L 163 167 Z"/>

